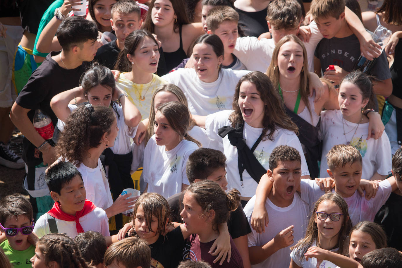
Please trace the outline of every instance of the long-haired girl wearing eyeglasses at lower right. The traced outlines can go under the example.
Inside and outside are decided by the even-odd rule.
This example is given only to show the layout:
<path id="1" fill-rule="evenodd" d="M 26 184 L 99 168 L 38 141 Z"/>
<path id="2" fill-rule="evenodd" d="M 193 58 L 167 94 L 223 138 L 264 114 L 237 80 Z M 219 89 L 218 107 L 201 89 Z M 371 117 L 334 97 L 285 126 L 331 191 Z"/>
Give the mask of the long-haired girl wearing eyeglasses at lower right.
<path id="1" fill-rule="evenodd" d="M 349 259 L 341 254 L 348 246 L 346 238 L 351 228 L 352 223 L 345 200 L 339 194 L 332 192 L 322 195 L 314 205 L 306 236 L 291 248 L 289 268 L 316 268 L 318 260 L 306 257 L 306 254 L 320 249 L 335 252 L 339 258 Z M 320 268 L 336 267 L 328 260 L 319 261 L 322 261 Z"/>

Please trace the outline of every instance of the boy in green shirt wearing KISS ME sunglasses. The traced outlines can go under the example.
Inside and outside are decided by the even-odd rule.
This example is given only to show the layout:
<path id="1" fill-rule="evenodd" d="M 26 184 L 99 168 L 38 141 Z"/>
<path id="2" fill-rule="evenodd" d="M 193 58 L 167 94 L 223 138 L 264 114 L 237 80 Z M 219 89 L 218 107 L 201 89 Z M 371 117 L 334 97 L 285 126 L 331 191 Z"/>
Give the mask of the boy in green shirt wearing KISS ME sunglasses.
<path id="1" fill-rule="evenodd" d="M 28 242 L 33 231 L 33 211 L 22 194 L 11 194 L 0 200 L 0 229 L 6 240 L 0 243 L 8 260 L 14 266 L 31 267 L 35 246 Z"/>

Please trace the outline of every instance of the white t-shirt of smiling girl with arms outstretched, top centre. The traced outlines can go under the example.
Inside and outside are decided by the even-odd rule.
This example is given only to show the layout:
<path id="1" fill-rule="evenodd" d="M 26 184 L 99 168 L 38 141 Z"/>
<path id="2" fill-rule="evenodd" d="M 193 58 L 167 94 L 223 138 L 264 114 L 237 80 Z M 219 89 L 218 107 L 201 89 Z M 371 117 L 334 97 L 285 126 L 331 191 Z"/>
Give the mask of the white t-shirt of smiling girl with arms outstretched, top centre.
<path id="1" fill-rule="evenodd" d="M 179 68 L 162 79 L 183 90 L 193 115 L 209 115 L 232 108 L 234 90 L 240 78 L 250 71 L 222 69 L 215 82 L 202 82 L 193 68 Z"/>

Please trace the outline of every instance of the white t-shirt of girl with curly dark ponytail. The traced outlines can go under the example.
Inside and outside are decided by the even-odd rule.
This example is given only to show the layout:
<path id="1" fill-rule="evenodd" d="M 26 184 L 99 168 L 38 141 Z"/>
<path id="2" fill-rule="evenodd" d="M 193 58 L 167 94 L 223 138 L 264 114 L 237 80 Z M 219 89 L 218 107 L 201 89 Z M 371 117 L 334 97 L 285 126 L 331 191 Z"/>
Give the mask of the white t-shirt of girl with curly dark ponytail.
<path id="1" fill-rule="evenodd" d="M 98 166 L 96 168 L 88 168 L 81 163 L 77 169 L 81 172 L 82 180 L 84 181 L 86 199 L 92 201 L 96 207 L 100 207 L 101 209 L 107 209 L 113 205 L 109 181 L 103 170 L 102 163 L 100 163 L 100 159 L 98 159 Z"/>

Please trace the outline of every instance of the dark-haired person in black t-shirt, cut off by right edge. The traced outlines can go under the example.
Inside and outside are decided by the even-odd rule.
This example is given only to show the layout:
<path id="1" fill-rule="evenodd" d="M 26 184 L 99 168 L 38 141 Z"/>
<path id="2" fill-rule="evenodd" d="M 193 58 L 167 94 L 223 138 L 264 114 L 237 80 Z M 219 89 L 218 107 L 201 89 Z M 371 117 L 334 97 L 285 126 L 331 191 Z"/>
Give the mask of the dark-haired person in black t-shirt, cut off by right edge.
<path id="1" fill-rule="evenodd" d="M 399 237 L 402 237 L 402 231 L 400 225 L 402 223 L 402 215 L 399 213 L 402 206 L 402 148 L 396 150 L 392 157 L 392 175 L 396 180 L 398 188 L 394 190 L 387 202 L 375 215 L 374 221 L 380 224 L 386 234 L 388 246 L 402 250 L 402 241 Z"/>

